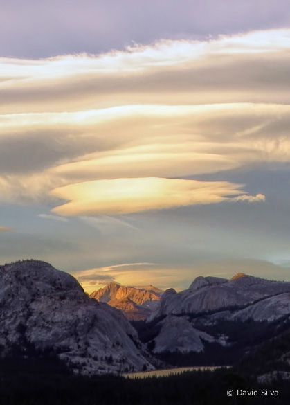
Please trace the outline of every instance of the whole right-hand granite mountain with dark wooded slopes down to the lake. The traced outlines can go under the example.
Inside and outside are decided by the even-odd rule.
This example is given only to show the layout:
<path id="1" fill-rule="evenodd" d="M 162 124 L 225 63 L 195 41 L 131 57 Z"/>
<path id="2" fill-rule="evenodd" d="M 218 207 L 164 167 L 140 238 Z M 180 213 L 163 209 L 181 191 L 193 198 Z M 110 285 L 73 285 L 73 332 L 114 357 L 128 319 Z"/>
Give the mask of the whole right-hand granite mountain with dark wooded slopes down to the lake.
<path id="1" fill-rule="evenodd" d="M 132 324 L 174 366 L 230 364 L 290 331 L 290 282 L 197 277 L 185 291 L 167 289 L 147 322 Z"/>

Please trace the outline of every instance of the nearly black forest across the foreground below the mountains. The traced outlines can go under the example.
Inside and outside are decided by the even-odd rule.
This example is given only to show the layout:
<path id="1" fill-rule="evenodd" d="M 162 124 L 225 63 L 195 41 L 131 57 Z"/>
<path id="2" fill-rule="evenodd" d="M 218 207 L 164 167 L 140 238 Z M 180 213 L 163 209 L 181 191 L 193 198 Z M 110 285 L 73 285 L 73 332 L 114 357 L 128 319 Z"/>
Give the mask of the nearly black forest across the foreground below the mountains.
<path id="1" fill-rule="evenodd" d="M 281 377 L 257 383 L 266 372 L 289 371 L 280 359 L 289 352 L 290 334 L 245 354 L 232 368 L 192 371 L 169 377 L 126 379 L 118 375 L 73 375 L 53 352 L 15 355 L 0 361 L 1 404 L 5 405 L 238 405 L 290 403 L 289 381 Z M 279 395 L 252 397 L 227 390 L 278 390 Z"/>

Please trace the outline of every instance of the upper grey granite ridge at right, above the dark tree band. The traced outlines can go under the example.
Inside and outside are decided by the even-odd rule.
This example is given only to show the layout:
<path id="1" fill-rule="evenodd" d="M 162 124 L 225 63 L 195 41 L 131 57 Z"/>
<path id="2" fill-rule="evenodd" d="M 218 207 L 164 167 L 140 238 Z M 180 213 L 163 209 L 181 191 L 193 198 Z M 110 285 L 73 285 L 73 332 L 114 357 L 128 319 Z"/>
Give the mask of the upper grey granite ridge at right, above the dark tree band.
<path id="1" fill-rule="evenodd" d="M 165 291 L 156 310 L 149 317 L 152 320 L 158 316 L 170 314 L 188 314 L 201 312 L 215 312 L 223 308 L 246 306 L 263 298 L 273 298 L 263 305 L 253 307 L 253 316 L 256 319 L 267 316 L 284 314 L 289 310 L 289 296 L 281 298 L 284 309 L 275 309 L 275 300 L 278 295 L 290 293 L 290 282 L 264 280 L 245 274 L 238 274 L 231 280 L 217 277 L 198 277 L 192 282 L 190 288 L 176 293 L 170 289 Z M 249 313 L 248 313 L 249 314 Z M 241 313 L 239 316 L 246 316 Z M 249 316 L 250 317 L 250 316 Z"/>

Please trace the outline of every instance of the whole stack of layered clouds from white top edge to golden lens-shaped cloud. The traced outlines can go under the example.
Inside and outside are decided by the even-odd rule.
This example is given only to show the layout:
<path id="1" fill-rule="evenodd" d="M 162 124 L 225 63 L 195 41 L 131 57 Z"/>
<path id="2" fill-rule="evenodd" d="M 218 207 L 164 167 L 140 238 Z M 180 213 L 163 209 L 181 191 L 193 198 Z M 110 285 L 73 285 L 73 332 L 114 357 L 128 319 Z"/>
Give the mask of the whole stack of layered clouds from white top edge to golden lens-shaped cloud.
<path id="1" fill-rule="evenodd" d="M 290 161 L 289 49 L 284 29 L 1 58 L 0 201 L 60 215 L 264 201 L 185 178 Z"/>

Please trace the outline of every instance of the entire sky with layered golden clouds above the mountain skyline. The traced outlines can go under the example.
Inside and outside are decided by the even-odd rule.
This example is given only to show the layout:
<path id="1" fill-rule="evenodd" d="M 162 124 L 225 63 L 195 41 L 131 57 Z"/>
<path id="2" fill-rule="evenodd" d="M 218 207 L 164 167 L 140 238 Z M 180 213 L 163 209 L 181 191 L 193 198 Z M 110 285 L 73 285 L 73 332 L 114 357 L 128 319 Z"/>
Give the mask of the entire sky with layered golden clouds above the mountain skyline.
<path id="1" fill-rule="evenodd" d="M 289 1 L 0 6 L 1 264 L 290 281 Z"/>

